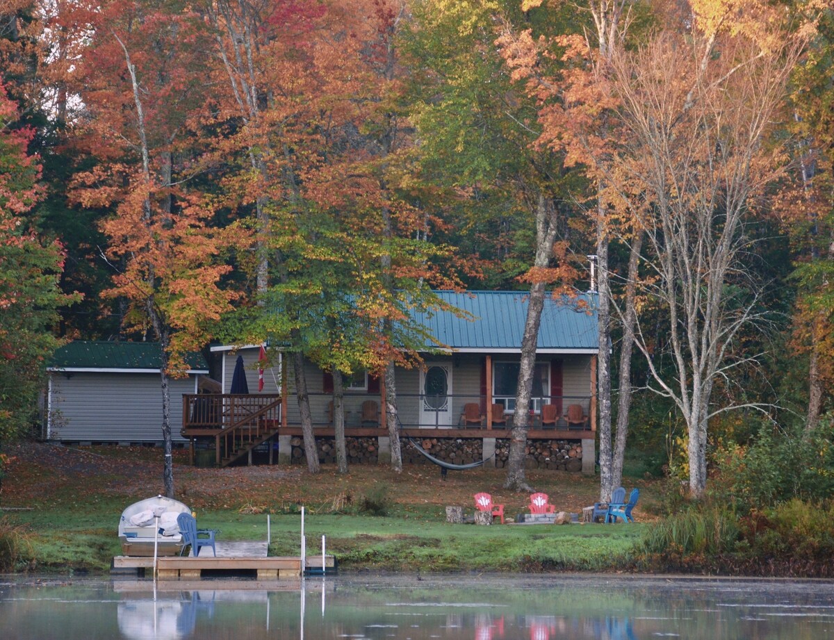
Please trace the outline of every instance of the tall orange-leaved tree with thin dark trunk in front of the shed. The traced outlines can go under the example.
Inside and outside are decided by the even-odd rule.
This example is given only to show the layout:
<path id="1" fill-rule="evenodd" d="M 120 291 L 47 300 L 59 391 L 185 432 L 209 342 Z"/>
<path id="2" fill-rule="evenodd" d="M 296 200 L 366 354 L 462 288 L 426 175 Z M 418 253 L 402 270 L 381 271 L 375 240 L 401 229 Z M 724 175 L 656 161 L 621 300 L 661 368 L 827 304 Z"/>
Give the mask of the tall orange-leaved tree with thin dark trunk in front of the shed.
<path id="1" fill-rule="evenodd" d="M 202 347 L 234 297 L 220 286 L 229 266 L 219 262 L 207 224 L 213 212 L 188 189 L 188 117 L 202 108 L 195 93 L 203 77 L 201 23 L 170 2 L 75 8 L 66 18 L 89 35 L 77 42 L 77 91 L 88 118 L 76 135 L 97 163 L 77 174 L 73 197 L 113 207 L 103 223 L 104 258 L 115 271 L 108 293 L 128 301 L 129 329 L 159 341 L 163 483 L 173 497 L 168 379 L 184 373 L 184 354 Z"/>

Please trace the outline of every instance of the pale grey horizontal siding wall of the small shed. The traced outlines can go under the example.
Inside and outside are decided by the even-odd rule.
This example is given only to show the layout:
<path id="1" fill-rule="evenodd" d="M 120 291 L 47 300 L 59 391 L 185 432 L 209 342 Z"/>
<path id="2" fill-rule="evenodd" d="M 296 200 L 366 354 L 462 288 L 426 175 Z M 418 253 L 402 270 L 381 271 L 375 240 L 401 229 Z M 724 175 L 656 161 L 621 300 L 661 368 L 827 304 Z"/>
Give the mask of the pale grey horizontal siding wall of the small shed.
<path id="1" fill-rule="evenodd" d="M 183 393 L 193 376 L 169 381 L 171 436 L 183 441 Z M 50 440 L 66 442 L 162 442 L 162 388 L 158 373 L 51 374 Z"/>

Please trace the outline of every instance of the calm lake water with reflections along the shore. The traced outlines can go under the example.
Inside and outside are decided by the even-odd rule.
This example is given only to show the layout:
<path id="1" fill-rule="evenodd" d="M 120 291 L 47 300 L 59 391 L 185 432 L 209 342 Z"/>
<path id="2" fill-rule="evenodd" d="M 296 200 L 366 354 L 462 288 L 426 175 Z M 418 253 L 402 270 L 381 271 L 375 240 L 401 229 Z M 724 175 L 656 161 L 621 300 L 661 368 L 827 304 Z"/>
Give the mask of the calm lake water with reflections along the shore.
<path id="1" fill-rule="evenodd" d="M 0 577 L 0 640 L 834 638 L 834 582 L 328 577 L 159 582 Z"/>

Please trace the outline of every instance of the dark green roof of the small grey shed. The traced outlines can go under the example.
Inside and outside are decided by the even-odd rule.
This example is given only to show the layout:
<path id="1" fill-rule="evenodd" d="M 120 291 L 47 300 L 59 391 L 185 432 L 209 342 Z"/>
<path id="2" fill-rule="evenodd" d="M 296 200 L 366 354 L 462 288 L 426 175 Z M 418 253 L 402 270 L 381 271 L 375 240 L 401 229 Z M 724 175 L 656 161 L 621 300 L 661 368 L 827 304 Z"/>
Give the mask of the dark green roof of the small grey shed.
<path id="1" fill-rule="evenodd" d="M 194 373 L 208 373 L 208 363 L 201 353 L 189 353 L 185 362 Z M 111 343 L 73 340 L 58 348 L 49 363 L 50 369 L 91 369 L 111 371 L 159 371 L 159 343 Z"/>

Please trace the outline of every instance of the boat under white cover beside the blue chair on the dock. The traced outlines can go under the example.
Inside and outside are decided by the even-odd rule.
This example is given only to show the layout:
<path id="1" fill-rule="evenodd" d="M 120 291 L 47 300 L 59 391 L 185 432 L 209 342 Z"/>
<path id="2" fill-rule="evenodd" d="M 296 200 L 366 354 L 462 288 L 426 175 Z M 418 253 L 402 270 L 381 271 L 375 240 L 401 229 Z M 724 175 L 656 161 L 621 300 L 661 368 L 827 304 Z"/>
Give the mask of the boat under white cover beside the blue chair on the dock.
<path id="1" fill-rule="evenodd" d="M 118 520 L 123 554 L 153 556 L 156 538 L 158 556 L 178 555 L 183 548 L 183 536 L 177 526 L 177 516 L 190 512 L 182 502 L 164 496 L 134 502 Z"/>

